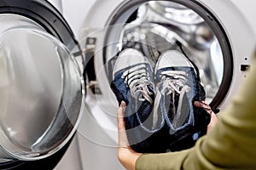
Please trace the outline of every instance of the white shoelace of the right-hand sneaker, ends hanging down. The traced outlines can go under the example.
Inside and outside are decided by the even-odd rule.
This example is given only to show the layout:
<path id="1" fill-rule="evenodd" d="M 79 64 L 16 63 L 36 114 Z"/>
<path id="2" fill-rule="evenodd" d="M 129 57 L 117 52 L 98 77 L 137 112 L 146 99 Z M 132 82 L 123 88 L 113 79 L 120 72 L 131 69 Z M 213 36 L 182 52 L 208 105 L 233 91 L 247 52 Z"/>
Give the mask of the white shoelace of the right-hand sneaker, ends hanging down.
<path id="1" fill-rule="evenodd" d="M 154 118 L 153 118 L 153 128 L 157 126 L 158 114 L 157 109 L 160 106 L 161 95 L 172 94 L 172 101 L 175 102 L 175 94 L 180 94 L 177 104 L 177 109 L 175 104 L 173 104 L 173 112 L 176 113 L 173 120 L 173 127 L 179 126 L 183 122 L 179 122 L 179 117 L 181 116 L 181 108 L 183 102 L 183 96 L 185 93 L 189 92 L 190 88 L 185 84 L 187 81 L 187 74 L 184 71 L 163 71 L 161 72 L 161 81 L 156 85 L 157 94 L 154 102 Z M 160 89 L 161 87 L 161 89 Z"/>

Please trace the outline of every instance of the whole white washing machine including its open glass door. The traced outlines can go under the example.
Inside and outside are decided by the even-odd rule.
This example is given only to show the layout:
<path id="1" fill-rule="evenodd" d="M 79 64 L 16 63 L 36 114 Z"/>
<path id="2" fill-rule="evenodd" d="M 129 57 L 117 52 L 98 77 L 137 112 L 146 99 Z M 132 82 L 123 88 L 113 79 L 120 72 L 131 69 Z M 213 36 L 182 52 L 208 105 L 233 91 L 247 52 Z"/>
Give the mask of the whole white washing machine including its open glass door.
<path id="1" fill-rule="evenodd" d="M 223 110 L 252 64 L 255 4 L 0 0 L 0 169 L 123 169 L 108 68 L 125 47 L 183 50 Z"/>

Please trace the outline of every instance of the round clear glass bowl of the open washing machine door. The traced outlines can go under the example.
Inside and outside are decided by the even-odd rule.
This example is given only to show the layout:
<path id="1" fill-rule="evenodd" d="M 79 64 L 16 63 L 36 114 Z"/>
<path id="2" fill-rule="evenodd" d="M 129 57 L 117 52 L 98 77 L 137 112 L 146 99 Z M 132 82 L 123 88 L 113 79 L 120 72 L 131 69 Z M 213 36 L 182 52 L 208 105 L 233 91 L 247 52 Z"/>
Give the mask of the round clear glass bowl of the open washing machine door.
<path id="1" fill-rule="evenodd" d="M 0 22 L 0 162 L 60 150 L 83 110 L 84 80 L 68 49 L 16 14 Z"/>

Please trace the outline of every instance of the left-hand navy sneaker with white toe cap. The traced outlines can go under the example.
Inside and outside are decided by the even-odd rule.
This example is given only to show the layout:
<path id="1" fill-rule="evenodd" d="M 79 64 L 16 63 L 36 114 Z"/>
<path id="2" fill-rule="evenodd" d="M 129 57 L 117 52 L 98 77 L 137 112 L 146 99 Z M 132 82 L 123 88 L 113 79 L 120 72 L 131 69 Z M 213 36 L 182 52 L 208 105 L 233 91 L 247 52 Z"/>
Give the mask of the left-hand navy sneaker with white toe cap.
<path id="1" fill-rule="evenodd" d="M 125 48 L 113 67 L 111 88 L 119 104 L 125 101 L 125 129 L 131 148 L 137 152 L 153 152 L 152 141 L 163 127 L 164 118 L 154 111 L 153 70 L 146 57 L 133 48 Z"/>

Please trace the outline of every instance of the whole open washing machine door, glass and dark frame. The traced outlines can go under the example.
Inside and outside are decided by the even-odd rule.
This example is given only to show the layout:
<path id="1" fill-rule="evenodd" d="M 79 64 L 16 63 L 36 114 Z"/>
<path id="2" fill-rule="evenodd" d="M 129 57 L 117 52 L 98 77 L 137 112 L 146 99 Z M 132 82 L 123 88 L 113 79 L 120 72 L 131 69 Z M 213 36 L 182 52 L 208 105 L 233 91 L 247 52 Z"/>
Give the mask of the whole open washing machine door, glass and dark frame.
<path id="1" fill-rule="evenodd" d="M 0 169 L 52 169 L 83 111 L 79 45 L 44 0 L 1 0 L 0 23 Z"/>

